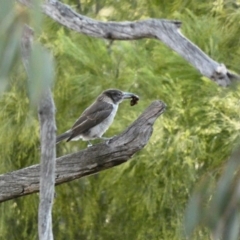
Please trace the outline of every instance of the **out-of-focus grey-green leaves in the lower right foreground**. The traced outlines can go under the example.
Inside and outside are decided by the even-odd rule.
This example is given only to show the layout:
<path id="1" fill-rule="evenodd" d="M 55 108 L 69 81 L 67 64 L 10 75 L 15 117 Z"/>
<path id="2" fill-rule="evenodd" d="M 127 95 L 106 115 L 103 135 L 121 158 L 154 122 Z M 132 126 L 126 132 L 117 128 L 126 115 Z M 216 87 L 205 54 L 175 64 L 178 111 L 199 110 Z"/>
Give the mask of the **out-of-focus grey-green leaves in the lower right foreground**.
<path id="1" fill-rule="evenodd" d="M 194 191 L 185 214 L 187 236 L 202 224 L 213 239 L 239 239 L 239 153 L 234 152 L 217 184 L 208 177 Z"/>

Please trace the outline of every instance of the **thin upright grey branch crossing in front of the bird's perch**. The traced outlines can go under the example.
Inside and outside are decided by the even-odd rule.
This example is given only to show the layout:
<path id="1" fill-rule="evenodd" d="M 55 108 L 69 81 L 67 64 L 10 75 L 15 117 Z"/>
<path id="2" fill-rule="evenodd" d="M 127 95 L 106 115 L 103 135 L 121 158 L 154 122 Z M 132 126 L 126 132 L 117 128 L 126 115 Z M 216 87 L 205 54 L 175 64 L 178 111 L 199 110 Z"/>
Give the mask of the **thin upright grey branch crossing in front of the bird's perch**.
<path id="1" fill-rule="evenodd" d="M 28 61 L 31 52 L 33 34 L 34 32 L 31 28 L 28 26 L 24 27 L 22 36 L 22 59 L 27 73 L 30 70 Z M 48 86 L 42 93 L 38 112 L 41 129 L 41 176 L 38 233 L 40 240 L 52 240 L 52 205 L 55 184 L 56 126 L 55 106 L 50 88 Z"/>

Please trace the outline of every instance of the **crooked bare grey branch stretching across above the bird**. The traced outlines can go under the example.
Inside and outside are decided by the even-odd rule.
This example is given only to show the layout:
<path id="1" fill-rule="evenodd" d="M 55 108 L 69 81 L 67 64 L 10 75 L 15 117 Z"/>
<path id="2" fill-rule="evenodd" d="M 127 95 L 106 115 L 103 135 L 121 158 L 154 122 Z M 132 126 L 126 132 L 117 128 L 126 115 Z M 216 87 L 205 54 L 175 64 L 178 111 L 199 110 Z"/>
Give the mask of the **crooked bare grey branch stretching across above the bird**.
<path id="1" fill-rule="evenodd" d="M 30 6 L 31 0 L 17 0 Z M 102 22 L 85 17 L 73 11 L 69 6 L 55 0 L 42 5 L 43 12 L 56 22 L 88 36 L 110 40 L 134 40 L 155 38 L 180 54 L 199 72 L 220 86 L 228 86 L 238 75 L 230 73 L 224 64 L 220 64 L 200 48 L 184 37 L 179 28 L 180 21 L 148 19 L 136 22 Z"/>

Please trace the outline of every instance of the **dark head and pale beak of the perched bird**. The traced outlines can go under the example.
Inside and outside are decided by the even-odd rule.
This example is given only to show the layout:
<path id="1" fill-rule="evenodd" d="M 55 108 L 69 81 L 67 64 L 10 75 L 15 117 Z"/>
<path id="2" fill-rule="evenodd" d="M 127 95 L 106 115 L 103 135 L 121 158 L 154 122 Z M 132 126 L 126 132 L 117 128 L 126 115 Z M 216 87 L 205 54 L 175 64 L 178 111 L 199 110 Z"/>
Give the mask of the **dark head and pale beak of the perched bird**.
<path id="1" fill-rule="evenodd" d="M 103 100 L 108 101 L 114 104 L 121 103 L 124 99 L 138 98 L 137 95 L 130 92 L 123 92 L 118 89 L 108 89 L 104 91 L 102 94 Z"/>

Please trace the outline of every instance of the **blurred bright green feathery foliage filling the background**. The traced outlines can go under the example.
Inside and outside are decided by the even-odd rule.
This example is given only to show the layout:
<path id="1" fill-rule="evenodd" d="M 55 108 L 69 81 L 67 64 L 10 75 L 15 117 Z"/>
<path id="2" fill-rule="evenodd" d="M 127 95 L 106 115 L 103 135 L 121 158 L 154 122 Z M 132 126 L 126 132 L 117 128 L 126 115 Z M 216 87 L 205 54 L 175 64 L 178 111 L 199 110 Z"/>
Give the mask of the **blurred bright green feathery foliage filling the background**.
<path id="1" fill-rule="evenodd" d="M 78 11 L 77 1 L 64 2 Z M 13 20 L 17 17 L 22 23 L 34 24 L 27 9 L 9 9 L 14 10 Z M 191 41 L 214 60 L 239 72 L 237 1 L 91 0 L 81 1 L 81 13 L 116 21 L 179 19 L 182 32 Z M 204 183 L 210 192 L 203 204 L 207 205 L 227 159 L 239 144 L 239 86 L 218 87 L 156 40 L 114 41 L 110 45 L 65 29 L 47 17 L 41 26 L 36 40 L 55 59 L 58 133 L 71 127 L 107 88 L 134 92 L 141 101 L 134 107 L 122 103 L 106 136 L 123 131 L 153 100 L 161 99 L 168 106 L 156 121 L 149 144 L 131 161 L 56 188 L 55 239 L 185 239 L 183 219 L 188 199 L 199 188 L 199 194 L 205 194 Z M 7 36 L 5 40 L 14 37 L 3 36 Z M 15 42 L 12 44 L 15 47 Z M 3 46 L 1 43 L 0 53 Z M 0 72 L 4 83 L 0 89 L 1 174 L 39 162 L 37 113 L 30 108 L 27 77 L 17 51 L 8 77 Z M 0 61 L 6 60 L 11 58 L 1 54 Z M 86 145 L 81 141 L 61 143 L 57 153 L 61 156 Z M 190 199 L 196 199 L 194 196 Z M 191 214 L 196 207 L 202 210 L 195 203 L 188 205 Z M 37 239 L 37 210 L 37 194 L 2 203 L 0 239 Z M 201 222 L 197 221 L 198 213 L 195 217 L 196 224 Z M 187 222 L 188 232 L 195 222 L 193 226 Z M 191 239 L 211 239 L 212 228 L 206 226 L 196 228 Z"/>

